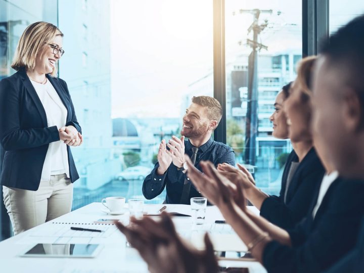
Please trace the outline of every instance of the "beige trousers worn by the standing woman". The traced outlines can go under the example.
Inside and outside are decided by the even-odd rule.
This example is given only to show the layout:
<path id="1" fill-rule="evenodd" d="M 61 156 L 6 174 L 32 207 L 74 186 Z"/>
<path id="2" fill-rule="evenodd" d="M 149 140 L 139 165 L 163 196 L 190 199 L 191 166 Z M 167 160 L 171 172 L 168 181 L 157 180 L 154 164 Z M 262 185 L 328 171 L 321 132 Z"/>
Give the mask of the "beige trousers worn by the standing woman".
<path id="1" fill-rule="evenodd" d="M 71 211 L 73 184 L 66 174 L 51 175 L 40 181 L 37 191 L 3 186 L 4 204 L 14 235 Z"/>

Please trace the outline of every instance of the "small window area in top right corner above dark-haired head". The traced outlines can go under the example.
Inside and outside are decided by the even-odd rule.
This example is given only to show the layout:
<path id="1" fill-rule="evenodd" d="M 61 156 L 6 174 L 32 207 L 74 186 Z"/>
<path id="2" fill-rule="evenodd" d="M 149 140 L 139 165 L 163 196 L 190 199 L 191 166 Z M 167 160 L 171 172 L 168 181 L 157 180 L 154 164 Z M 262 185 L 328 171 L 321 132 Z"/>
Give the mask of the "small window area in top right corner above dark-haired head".
<path id="1" fill-rule="evenodd" d="M 348 23 L 356 16 L 364 14 L 364 2 L 352 0 L 350 5 L 343 5 L 341 0 L 330 0 L 329 5 L 329 27 L 330 33 Z"/>

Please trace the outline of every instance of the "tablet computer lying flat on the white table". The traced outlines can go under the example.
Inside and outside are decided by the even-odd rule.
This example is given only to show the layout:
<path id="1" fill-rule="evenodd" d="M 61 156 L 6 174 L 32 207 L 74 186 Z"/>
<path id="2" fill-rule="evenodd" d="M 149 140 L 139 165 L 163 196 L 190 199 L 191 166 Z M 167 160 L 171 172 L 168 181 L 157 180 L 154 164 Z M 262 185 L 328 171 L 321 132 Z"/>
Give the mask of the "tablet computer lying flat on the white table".
<path id="1" fill-rule="evenodd" d="M 93 258 L 102 249 L 98 244 L 36 244 L 21 253 L 21 257 Z"/>

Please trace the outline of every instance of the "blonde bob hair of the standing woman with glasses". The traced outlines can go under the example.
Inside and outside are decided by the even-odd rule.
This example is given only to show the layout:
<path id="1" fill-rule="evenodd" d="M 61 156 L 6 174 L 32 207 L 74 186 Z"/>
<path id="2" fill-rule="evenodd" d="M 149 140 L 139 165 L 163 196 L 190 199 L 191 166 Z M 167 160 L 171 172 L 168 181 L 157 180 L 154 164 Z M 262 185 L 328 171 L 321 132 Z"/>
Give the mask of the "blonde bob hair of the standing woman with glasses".
<path id="1" fill-rule="evenodd" d="M 36 22 L 29 25 L 19 39 L 11 67 L 15 70 L 24 68 L 34 69 L 37 54 L 42 50 L 44 53 L 44 43 L 52 42 L 57 35 L 63 37 L 63 33 L 55 25 L 47 22 Z M 57 76 L 56 68 L 53 68 L 52 77 Z"/>

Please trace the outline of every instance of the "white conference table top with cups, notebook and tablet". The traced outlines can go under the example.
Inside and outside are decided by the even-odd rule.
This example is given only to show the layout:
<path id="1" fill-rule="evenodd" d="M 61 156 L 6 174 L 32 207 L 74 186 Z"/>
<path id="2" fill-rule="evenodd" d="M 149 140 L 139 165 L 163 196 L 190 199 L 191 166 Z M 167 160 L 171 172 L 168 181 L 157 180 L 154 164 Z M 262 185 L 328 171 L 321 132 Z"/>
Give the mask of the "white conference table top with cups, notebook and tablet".
<path id="1" fill-rule="evenodd" d="M 153 212 L 160 209 L 163 205 L 144 205 L 147 211 Z M 119 216 L 108 215 L 103 211 L 101 203 L 92 203 L 75 211 L 67 213 L 57 219 L 36 226 L 22 234 L 0 242 L 0 272 L 59 272 L 59 273 L 111 273 L 111 272 L 148 272 L 147 265 L 140 257 L 138 252 L 126 246 L 125 237 L 119 231 L 114 230 L 114 225 L 108 232 L 110 236 L 105 238 L 76 238 L 78 243 L 100 243 L 103 245 L 100 253 L 94 258 L 75 258 L 75 257 L 20 257 L 27 249 L 36 243 L 61 243 L 65 238 L 55 239 L 48 234 L 55 225 L 62 223 L 93 223 L 100 218 L 120 219 L 127 222 L 129 213 Z M 250 208 L 253 209 L 254 208 Z M 186 212 L 190 210 L 188 205 L 167 205 L 167 211 Z M 158 217 L 158 216 L 156 216 Z M 214 229 L 215 220 L 222 220 L 223 217 L 215 206 L 207 207 L 205 224 L 199 227 L 198 231 L 193 231 L 192 217 L 175 216 L 173 222 L 177 232 L 188 240 L 192 232 L 204 234 L 204 230 Z M 56 224 L 57 223 L 57 224 Z M 74 225 L 74 224 L 73 224 Z M 89 225 L 90 229 L 97 229 L 97 225 Z M 226 226 L 226 225 L 225 225 Z M 220 226 L 218 226 L 219 228 Z M 106 228 L 106 226 L 105 226 Z M 89 234 L 90 232 L 88 232 Z M 99 233 L 93 233 L 99 234 Z M 98 236 L 98 235 L 95 235 Z M 202 236 L 201 236 L 202 238 Z M 67 240 L 63 243 L 67 243 Z M 56 240 L 56 242 L 55 242 Z M 58 241 L 57 241 L 58 240 Z M 75 240 L 73 238 L 72 240 Z M 201 239 L 202 240 L 202 239 Z M 68 242 L 75 243 L 75 242 Z M 196 243 L 196 242 L 195 242 Z M 256 261 L 229 261 L 220 260 L 219 264 L 225 267 L 247 267 L 250 273 L 264 273 L 264 267 Z"/>

